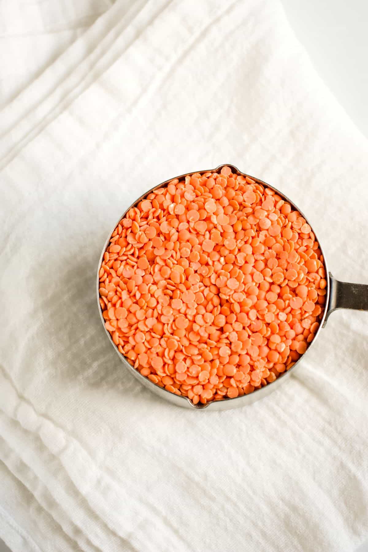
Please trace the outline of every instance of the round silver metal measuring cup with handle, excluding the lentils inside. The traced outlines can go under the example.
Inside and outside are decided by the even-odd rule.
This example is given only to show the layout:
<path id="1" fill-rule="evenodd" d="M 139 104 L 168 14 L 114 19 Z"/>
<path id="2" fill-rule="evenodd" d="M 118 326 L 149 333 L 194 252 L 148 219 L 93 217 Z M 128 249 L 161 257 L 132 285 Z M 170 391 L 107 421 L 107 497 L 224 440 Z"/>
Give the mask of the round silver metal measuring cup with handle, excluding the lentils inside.
<path id="1" fill-rule="evenodd" d="M 134 367 L 132 367 L 132 365 L 129 364 L 129 362 L 127 362 L 125 357 L 118 351 L 118 347 L 116 347 L 115 343 L 113 342 L 113 339 L 110 336 L 110 333 L 105 328 L 105 321 L 103 319 L 102 309 L 101 309 L 100 304 L 99 304 L 99 269 L 100 269 L 100 266 L 101 266 L 101 263 L 102 263 L 103 255 L 106 251 L 106 248 L 109 245 L 111 234 L 115 230 L 116 226 L 118 226 L 120 220 L 127 214 L 129 209 L 131 209 L 132 207 L 136 207 L 137 204 L 142 199 L 144 199 L 148 194 L 153 192 L 153 190 L 156 190 L 157 188 L 165 187 L 174 178 L 178 178 L 179 180 L 181 180 L 181 179 L 185 178 L 186 176 L 191 176 L 195 173 L 201 173 L 201 174 L 206 173 L 206 172 L 212 172 L 212 173 L 216 172 L 216 173 L 218 173 L 218 172 L 221 171 L 222 167 L 225 167 L 225 166 L 230 167 L 232 173 L 234 173 L 234 174 L 241 174 L 244 177 L 248 176 L 248 177 L 252 178 L 255 182 L 258 182 L 259 184 L 262 184 L 264 187 L 274 190 L 274 192 L 276 192 L 282 199 L 284 199 L 285 201 L 290 203 L 290 205 L 292 205 L 294 207 L 294 209 L 296 209 L 308 222 L 308 219 L 305 216 L 305 214 L 302 213 L 302 211 L 295 205 L 295 203 L 293 203 L 293 201 L 291 201 L 289 198 L 287 198 L 286 195 L 282 194 L 278 189 L 274 188 L 270 184 L 267 184 L 266 182 L 263 182 L 259 178 L 255 178 L 254 176 L 250 176 L 250 174 L 246 174 L 246 173 L 243 173 L 243 172 L 239 171 L 239 169 L 234 167 L 232 164 L 225 163 L 225 164 L 222 164 L 222 165 L 218 166 L 215 169 L 210 169 L 208 171 L 193 171 L 191 173 L 182 174 L 181 176 L 178 176 L 178 177 L 170 178 L 169 180 L 167 180 L 167 181 L 165 181 L 161 184 L 158 184 L 154 188 L 151 188 L 150 190 L 147 190 L 147 192 L 145 194 L 141 195 L 141 197 L 138 198 L 132 205 L 130 205 L 129 208 L 126 209 L 125 213 L 122 214 L 119 217 L 119 220 L 114 225 L 113 230 L 111 230 L 111 232 L 109 233 L 109 236 L 108 236 L 108 238 L 105 242 L 105 245 L 103 247 L 103 250 L 102 250 L 102 253 L 101 253 L 101 256 L 100 256 L 100 260 L 99 260 L 99 263 L 98 263 L 98 270 L 97 270 L 98 310 L 99 310 L 99 313 L 100 313 L 100 318 L 102 320 L 104 330 L 105 330 L 106 334 L 108 335 L 110 343 L 114 347 L 116 353 L 118 353 L 120 360 L 125 365 L 125 368 L 127 370 L 129 370 L 135 376 L 135 378 L 137 378 L 143 385 L 145 385 L 153 393 L 156 393 L 156 395 L 159 395 L 160 397 L 162 397 L 162 399 L 166 399 L 167 401 L 172 402 L 174 405 L 185 407 L 185 408 L 196 408 L 196 409 L 207 408 L 209 410 L 228 410 L 229 408 L 237 408 L 237 407 L 244 406 L 244 405 L 250 405 L 253 402 L 258 401 L 259 399 L 262 399 L 266 395 L 269 395 L 276 388 L 278 388 L 278 386 L 281 385 L 281 383 L 284 383 L 286 381 L 286 379 L 290 376 L 292 371 L 296 368 L 296 365 L 300 362 L 300 360 L 306 354 L 308 354 L 308 351 L 310 350 L 312 344 L 316 341 L 316 339 L 319 335 L 319 332 L 321 332 L 322 328 L 324 326 L 326 326 L 326 322 L 328 320 L 328 317 L 330 316 L 330 314 L 333 311 L 335 311 L 337 309 L 354 309 L 354 310 L 368 311 L 368 285 L 350 284 L 348 282 L 340 282 L 339 280 L 335 279 L 333 277 L 333 275 L 330 272 L 328 272 L 327 261 L 326 261 L 326 257 L 324 256 L 324 252 L 323 252 L 323 249 L 322 249 L 322 246 L 321 246 L 321 242 L 318 240 L 318 238 L 316 236 L 316 240 L 319 243 L 319 248 L 320 248 L 320 250 L 323 254 L 324 268 L 326 269 L 326 280 L 327 280 L 326 303 L 325 303 L 325 307 L 324 307 L 323 318 L 322 318 L 321 323 L 319 325 L 319 328 L 317 330 L 316 336 L 314 336 L 314 339 L 311 342 L 310 346 L 307 348 L 307 351 L 304 354 L 301 355 L 301 357 L 295 362 L 294 366 L 292 366 L 289 370 L 287 370 L 284 373 L 282 373 L 281 375 L 279 375 L 279 377 L 276 378 L 275 381 L 273 381 L 273 383 L 268 383 L 267 385 L 265 385 L 264 387 L 262 387 L 260 389 L 255 389 L 249 395 L 243 395 L 243 396 L 235 397 L 234 399 L 226 398 L 226 399 L 222 399 L 220 401 L 210 401 L 210 402 L 207 402 L 205 405 L 201 404 L 201 402 L 199 402 L 198 404 L 194 405 L 193 402 L 191 402 L 191 400 L 188 399 L 188 397 L 174 395 L 172 392 L 167 391 L 166 389 L 161 388 L 158 385 L 155 385 L 154 383 L 152 383 L 152 381 L 150 381 L 149 379 L 145 378 L 145 376 L 140 374 L 140 372 L 138 370 L 136 370 Z M 308 222 L 308 224 L 310 224 L 310 223 Z M 313 231 L 313 229 L 312 229 L 312 231 Z M 314 233 L 314 231 L 313 231 L 313 233 Z"/>

